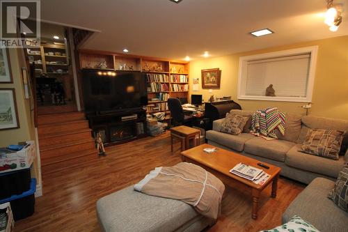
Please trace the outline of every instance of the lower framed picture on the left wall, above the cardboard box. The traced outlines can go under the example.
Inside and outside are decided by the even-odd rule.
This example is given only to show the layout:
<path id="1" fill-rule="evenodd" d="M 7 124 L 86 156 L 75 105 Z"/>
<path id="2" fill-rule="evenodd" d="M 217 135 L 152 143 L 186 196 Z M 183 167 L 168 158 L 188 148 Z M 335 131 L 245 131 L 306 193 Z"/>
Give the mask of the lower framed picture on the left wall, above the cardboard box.
<path id="1" fill-rule="evenodd" d="M 19 128 L 15 88 L 0 88 L 0 130 Z"/>

